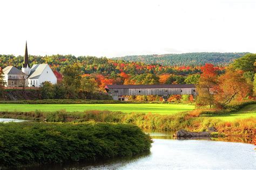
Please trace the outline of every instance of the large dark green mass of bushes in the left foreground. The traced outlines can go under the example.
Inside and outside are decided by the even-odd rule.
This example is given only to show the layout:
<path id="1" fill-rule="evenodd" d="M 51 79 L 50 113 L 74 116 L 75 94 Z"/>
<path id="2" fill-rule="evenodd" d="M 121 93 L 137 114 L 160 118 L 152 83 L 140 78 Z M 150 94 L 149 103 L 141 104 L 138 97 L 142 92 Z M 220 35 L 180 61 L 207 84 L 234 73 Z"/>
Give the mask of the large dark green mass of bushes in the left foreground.
<path id="1" fill-rule="evenodd" d="M 151 139 L 137 126 L 88 123 L 0 123 L 4 167 L 96 160 L 149 151 Z"/>

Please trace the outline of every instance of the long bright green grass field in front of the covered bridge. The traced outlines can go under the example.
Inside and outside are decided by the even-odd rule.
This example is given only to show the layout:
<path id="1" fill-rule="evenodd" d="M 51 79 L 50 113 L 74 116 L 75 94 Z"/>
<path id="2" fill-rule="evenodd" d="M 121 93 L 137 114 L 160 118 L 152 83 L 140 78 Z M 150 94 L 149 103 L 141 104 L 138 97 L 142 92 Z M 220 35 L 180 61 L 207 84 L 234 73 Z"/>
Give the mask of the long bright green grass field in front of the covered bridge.
<path id="1" fill-rule="evenodd" d="M 176 114 L 177 112 L 193 110 L 194 105 L 189 104 L 0 104 L 0 111 L 57 111 L 68 112 L 85 110 L 110 110 L 130 112 L 143 112 L 152 114 Z"/>

